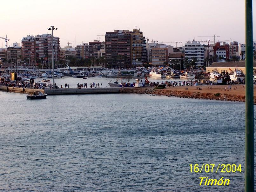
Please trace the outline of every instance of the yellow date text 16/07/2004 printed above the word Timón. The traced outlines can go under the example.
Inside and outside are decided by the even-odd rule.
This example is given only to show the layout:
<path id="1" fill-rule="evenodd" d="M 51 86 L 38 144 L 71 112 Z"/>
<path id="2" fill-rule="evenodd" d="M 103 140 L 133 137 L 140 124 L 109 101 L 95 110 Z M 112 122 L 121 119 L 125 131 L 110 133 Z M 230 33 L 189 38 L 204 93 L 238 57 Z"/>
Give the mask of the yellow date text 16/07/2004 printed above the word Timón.
<path id="1" fill-rule="evenodd" d="M 202 165 L 199 164 L 195 164 L 193 166 L 193 164 L 190 164 L 190 172 L 195 172 L 195 173 L 201 173 L 201 172 L 205 172 L 205 173 L 209 173 L 209 172 L 215 172 L 217 173 L 218 170 L 221 173 L 230 173 L 230 172 L 241 172 L 241 164 L 239 164 L 238 166 L 236 164 L 217 164 L 215 166 L 215 164 L 205 164 L 203 163 Z"/>

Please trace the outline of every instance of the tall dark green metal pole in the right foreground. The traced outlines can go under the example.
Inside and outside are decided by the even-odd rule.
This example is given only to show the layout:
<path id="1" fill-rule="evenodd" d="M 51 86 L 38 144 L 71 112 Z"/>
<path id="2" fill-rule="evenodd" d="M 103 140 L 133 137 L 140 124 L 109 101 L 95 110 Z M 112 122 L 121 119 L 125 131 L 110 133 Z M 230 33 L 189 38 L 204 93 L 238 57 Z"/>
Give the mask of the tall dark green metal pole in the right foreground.
<path id="1" fill-rule="evenodd" d="M 245 191 L 254 191 L 253 2 L 246 0 Z"/>

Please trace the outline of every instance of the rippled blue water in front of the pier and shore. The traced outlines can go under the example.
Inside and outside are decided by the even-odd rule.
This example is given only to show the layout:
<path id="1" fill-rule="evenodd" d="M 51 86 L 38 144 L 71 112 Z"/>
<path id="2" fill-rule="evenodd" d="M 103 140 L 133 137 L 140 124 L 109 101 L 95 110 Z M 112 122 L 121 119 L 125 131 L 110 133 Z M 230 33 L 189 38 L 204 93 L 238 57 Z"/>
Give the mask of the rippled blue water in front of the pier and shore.
<path id="1" fill-rule="evenodd" d="M 0 191 L 243 191 L 244 103 L 0 92 Z M 190 173 L 189 164 L 242 172 Z M 199 186 L 199 177 L 230 179 Z"/>

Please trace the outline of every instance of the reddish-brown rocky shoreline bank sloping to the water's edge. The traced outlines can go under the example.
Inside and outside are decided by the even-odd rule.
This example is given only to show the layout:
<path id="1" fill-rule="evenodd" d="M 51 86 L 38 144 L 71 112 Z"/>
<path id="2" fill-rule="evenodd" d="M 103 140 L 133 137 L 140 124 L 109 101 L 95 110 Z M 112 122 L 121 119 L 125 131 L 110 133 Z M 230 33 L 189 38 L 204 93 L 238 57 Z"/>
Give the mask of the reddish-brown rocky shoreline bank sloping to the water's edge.
<path id="1" fill-rule="evenodd" d="M 206 92 L 205 92 L 206 91 Z M 143 88 L 121 88 L 120 93 L 136 93 L 136 94 L 152 94 L 152 95 L 163 95 L 163 96 L 175 96 L 180 98 L 190 99 L 211 99 L 211 100 L 222 100 L 222 101 L 234 101 L 234 102 L 245 102 L 245 95 L 235 94 L 235 91 L 225 92 L 219 91 L 215 93 L 209 89 L 209 92 L 205 90 L 177 90 L 173 88 L 167 89 L 154 89 L 154 87 L 143 87 Z M 254 96 L 254 104 L 256 104 L 256 96 Z"/>

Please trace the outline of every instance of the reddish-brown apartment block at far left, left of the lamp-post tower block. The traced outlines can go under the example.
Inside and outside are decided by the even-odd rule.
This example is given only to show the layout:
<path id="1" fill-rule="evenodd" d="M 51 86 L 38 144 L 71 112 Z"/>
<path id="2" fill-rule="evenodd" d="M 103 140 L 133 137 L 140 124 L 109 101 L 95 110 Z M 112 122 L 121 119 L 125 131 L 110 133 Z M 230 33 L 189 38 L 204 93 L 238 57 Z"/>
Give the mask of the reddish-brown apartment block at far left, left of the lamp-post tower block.
<path id="1" fill-rule="evenodd" d="M 21 52 L 22 58 L 28 59 L 29 64 L 35 64 L 36 51 L 35 51 L 35 37 L 32 35 L 28 35 L 27 37 L 23 37 L 21 40 Z"/>

